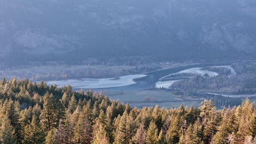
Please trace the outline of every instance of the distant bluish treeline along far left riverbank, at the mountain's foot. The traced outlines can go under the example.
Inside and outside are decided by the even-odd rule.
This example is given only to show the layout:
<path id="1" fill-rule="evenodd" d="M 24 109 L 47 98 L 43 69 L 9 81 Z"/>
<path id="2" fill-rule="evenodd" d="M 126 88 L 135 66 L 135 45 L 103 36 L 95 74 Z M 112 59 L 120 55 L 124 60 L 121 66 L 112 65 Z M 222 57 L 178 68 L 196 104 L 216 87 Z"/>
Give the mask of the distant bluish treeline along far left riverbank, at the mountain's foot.
<path id="1" fill-rule="evenodd" d="M 96 61 L 96 60 L 95 60 Z M 118 59 L 115 59 L 118 61 Z M 36 65 L 33 63 L 31 65 Z M 58 65 L 59 64 L 59 65 Z M 60 64 L 62 64 L 60 66 Z M 72 64 L 72 63 L 71 63 Z M 123 64 L 123 65 L 119 65 Z M 134 65 L 133 65 L 134 64 Z M 1 65 L 1 64 L 0 64 Z M 142 74 L 149 71 L 160 70 L 161 64 L 153 63 L 146 61 L 144 63 L 132 63 L 131 66 L 129 63 L 100 63 L 98 61 L 94 62 L 84 62 L 80 65 L 69 65 L 65 66 L 63 63 L 47 63 L 46 65 L 50 66 L 39 66 L 34 67 L 13 67 L 13 68 L 2 68 L 0 69 L 0 79 L 5 77 L 10 80 L 11 77 L 18 77 L 27 79 L 31 81 L 48 81 L 48 80 L 63 80 L 63 79 L 84 79 L 84 78 L 94 78 L 94 79 L 103 79 L 110 77 L 118 77 L 124 75 L 132 74 Z M 108 67 L 110 66 L 110 67 Z M 38 68 L 40 67 L 40 68 Z M 1 68 L 1 66 L 0 66 Z"/>

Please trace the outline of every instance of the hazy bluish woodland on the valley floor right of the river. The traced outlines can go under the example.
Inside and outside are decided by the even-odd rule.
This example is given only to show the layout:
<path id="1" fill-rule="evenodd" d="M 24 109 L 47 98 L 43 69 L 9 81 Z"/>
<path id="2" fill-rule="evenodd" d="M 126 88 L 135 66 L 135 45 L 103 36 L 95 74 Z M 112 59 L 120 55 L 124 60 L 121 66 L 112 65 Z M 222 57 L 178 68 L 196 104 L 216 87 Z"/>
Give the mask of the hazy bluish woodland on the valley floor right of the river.
<path id="1" fill-rule="evenodd" d="M 217 76 L 198 75 L 193 79 L 173 83 L 172 88 L 207 89 L 234 94 L 256 93 L 256 62 L 238 62 L 231 65 L 236 75 L 229 75 L 226 68 L 204 68 L 219 72 Z"/>

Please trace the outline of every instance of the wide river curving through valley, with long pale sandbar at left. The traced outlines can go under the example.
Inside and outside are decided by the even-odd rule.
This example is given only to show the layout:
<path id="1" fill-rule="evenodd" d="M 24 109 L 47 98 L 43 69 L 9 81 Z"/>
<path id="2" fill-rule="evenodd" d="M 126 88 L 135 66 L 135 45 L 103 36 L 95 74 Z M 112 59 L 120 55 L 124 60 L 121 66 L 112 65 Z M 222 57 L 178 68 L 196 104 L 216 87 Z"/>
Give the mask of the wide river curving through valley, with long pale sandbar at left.
<path id="1" fill-rule="evenodd" d="M 128 75 L 120 76 L 118 78 L 109 79 L 76 79 L 76 80 L 60 80 L 60 81 L 48 81 L 49 85 L 56 84 L 58 87 L 64 85 L 71 85 L 73 90 L 77 89 L 93 89 L 94 91 L 136 91 L 141 89 L 147 89 L 150 87 L 155 87 L 156 82 L 159 81 L 161 77 L 178 73 L 182 70 L 187 70 L 191 68 L 202 68 L 206 66 L 220 66 L 220 65 L 230 65 L 232 62 L 227 63 L 205 63 L 205 64 L 193 64 L 185 65 L 181 67 L 174 67 L 169 69 L 157 70 L 150 73 L 140 74 L 140 75 Z"/>

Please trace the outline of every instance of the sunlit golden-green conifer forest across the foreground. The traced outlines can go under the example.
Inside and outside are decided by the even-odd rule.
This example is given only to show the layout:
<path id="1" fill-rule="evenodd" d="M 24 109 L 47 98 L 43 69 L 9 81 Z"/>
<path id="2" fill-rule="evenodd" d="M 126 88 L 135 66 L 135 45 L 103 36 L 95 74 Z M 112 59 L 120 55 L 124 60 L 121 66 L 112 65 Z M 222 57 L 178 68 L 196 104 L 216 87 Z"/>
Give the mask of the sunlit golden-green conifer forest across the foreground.
<path id="1" fill-rule="evenodd" d="M 91 90 L 73 92 L 43 81 L 0 81 L 1 143 L 255 143 L 256 110 L 242 105 L 216 110 L 137 109 Z"/>

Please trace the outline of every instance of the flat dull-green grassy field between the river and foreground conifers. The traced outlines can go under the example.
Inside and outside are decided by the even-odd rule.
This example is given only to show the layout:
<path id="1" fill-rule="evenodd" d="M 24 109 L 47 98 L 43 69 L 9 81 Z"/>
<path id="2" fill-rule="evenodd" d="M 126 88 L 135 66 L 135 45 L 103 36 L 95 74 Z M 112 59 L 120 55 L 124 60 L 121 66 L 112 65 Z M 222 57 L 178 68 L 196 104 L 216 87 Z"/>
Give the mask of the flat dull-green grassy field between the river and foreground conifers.
<path id="1" fill-rule="evenodd" d="M 104 92 L 105 95 L 112 100 L 124 101 L 131 106 L 155 106 L 171 108 L 178 107 L 181 104 L 185 106 L 200 106 L 202 99 L 184 100 L 184 98 L 174 96 L 170 91 L 162 90 L 140 90 L 140 91 L 120 91 L 120 92 Z"/>

